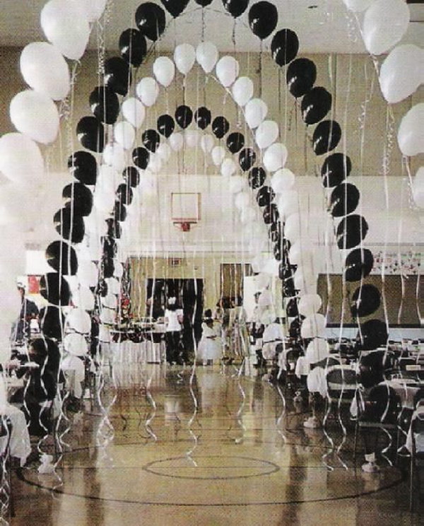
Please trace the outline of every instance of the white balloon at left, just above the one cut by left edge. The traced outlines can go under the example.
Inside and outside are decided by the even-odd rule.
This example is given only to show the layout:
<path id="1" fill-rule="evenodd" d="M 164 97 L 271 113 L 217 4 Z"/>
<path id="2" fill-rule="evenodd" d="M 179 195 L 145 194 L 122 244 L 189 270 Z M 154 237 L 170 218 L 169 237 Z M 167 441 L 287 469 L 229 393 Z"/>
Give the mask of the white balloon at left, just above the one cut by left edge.
<path id="1" fill-rule="evenodd" d="M 11 122 L 18 131 L 42 144 L 52 143 L 59 131 L 59 112 L 47 95 L 21 91 L 10 105 Z"/>

